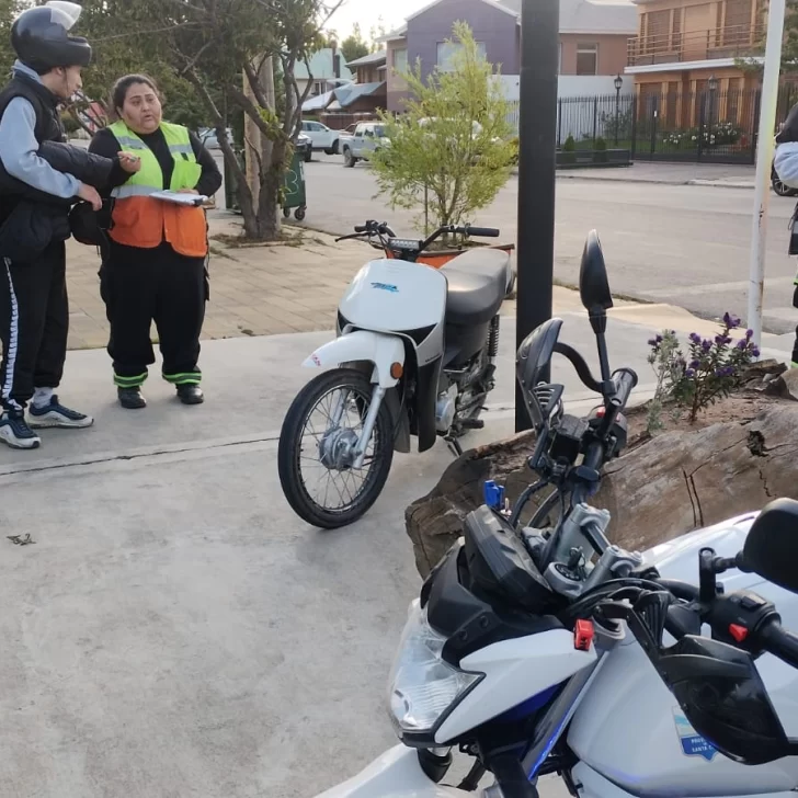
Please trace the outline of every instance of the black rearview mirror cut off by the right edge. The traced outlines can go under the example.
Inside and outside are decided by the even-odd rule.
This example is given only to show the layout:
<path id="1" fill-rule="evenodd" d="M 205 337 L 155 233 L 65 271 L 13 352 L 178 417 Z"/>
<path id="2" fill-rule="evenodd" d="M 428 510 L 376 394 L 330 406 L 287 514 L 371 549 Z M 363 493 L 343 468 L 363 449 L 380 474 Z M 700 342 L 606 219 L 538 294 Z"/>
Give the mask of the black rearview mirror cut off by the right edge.
<path id="1" fill-rule="evenodd" d="M 798 502 L 776 499 L 759 514 L 745 538 L 745 567 L 798 593 Z"/>

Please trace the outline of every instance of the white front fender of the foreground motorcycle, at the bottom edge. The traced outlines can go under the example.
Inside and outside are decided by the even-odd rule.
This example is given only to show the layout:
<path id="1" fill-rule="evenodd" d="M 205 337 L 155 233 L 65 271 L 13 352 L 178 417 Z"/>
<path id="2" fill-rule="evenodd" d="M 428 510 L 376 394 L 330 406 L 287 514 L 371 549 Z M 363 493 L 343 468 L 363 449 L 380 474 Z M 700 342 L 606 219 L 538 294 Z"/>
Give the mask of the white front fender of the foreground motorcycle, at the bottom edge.
<path id="1" fill-rule="evenodd" d="M 430 780 L 419 765 L 415 750 L 396 745 L 354 778 L 316 798 L 474 798 L 474 793 Z"/>

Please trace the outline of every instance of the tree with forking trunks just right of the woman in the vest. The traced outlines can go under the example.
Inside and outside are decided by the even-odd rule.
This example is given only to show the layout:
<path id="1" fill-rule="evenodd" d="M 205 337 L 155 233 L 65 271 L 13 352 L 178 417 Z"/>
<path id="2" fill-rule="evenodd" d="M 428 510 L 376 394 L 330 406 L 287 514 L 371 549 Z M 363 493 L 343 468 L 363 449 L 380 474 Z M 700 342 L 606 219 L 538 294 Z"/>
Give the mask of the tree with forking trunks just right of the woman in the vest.
<path id="1" fill-rule="evenodd" d="M 319 46 L 320 31 L 334 8 L 324 0 L 136 0 L 129 5 L 148 20 L 157 43 L 152 54 L 191 84 L 216 129 L 219 147 L 233 175 L 249 238 L 280 236 L 280 198 L 293 142 L 299 133 L 301 104 L 312 80 L 300 91 L 297 62 L 307 64 Z M 139 30 L 141 27 L 139 26 Z M 285 103 L 277 113 L 274 92 L 264 83 L 266 58 L 277 61 Z M 277 69 L 267 70 L 274 75 Z M 249 91 L 242 88 L 242 76 Z M 244 171 L 227 135 L 230 115 L 246 114 L 261 134 L 254 150 L 258 184 L 248 185 Z"/>

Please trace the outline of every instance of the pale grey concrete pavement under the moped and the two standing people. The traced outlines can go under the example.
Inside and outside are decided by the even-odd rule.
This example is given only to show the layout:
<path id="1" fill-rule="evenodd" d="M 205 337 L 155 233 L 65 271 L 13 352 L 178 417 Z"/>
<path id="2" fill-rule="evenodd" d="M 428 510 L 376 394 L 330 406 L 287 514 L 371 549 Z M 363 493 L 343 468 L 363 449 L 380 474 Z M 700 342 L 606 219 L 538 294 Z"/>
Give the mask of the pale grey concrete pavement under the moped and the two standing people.
<path id="1" fill-rule="evenodd" d="M 595 368 L 577 297 L 558 290 L 556 312 Z M 612 365 L 639 372 L 642 398 L 650 334 L 700 322 L 612 312 Z M 513 321 L 472 443 L 512 430 Z M 61 395 L 95 426 L 0 449 L 0 796 L 307 798 L 394 743 L 385 680 L 419 589 L 403 510 L 451 456 L 440 443 L 397 456 L 349 528 L 299 522 L 276 442 L 310 376 L 298 364 L 330 337 L 209 341 L 204 406 L 153 378 L 136 412 L 115 404 L 103 351 L 70 352 Z M 554 376 L 580 408 L 595 402 L 562 358 Z M 35 545 L 5 539 L 20 534 Z"/>

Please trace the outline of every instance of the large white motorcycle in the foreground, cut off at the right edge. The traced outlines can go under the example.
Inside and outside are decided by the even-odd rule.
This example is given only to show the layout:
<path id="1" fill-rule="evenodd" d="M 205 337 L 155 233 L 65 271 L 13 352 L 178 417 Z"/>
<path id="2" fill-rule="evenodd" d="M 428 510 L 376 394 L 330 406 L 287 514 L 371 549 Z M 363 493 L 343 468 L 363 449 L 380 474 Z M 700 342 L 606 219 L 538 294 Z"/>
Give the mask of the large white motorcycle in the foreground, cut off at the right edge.
<path id="1" fill-rule="evenodd" d="M 595 233 L 580 284 L 601 380 L 558 341 L 560 319 L 522 344 L 540 480 L 512 512 L 487 486 L 493 506 L 467 516 L 410 607 L 388 689 L 401 744 L 320 798 L 466 798 L 488 772 L 482 798 L 535 798 L 552 773 L 575 798 L 794 798 L 798 637 L 776 607 L 798 628 L 798 502 L 645 555 L 609 544 L 608 513 L 585 500 L 625 444 L 636 377 L 609 373 Z M 562 386 L 542 383 L 555 352 L 601 394 L 590 418 L 565 414 Z M 520 505 L 545 487 L 554 491 L 520 528 Z M 453 749 L 475 764 L 445 786 Z"/>

